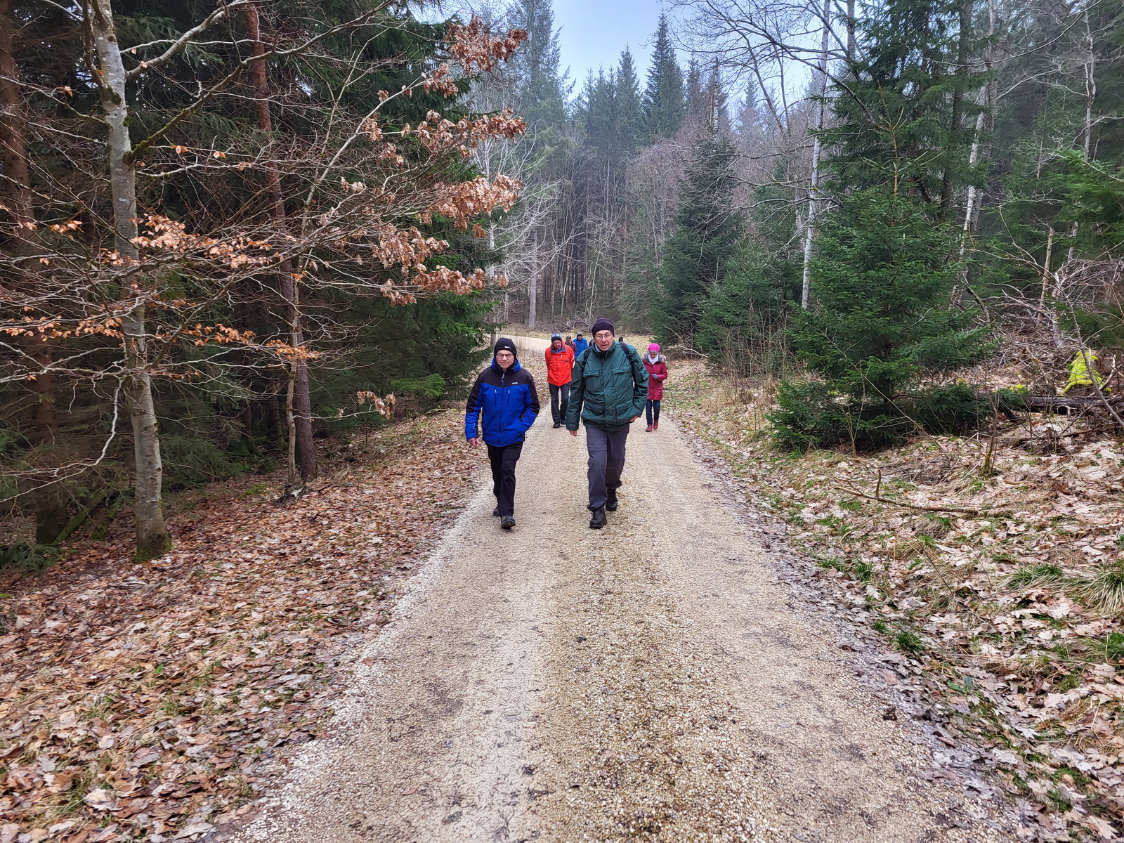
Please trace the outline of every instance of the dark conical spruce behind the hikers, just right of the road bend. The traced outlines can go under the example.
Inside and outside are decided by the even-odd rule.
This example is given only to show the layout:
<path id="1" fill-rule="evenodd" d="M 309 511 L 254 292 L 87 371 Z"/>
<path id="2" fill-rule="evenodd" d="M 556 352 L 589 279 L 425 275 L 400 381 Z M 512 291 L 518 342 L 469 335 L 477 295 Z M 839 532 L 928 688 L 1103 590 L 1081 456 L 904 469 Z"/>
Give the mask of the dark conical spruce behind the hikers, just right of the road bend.
<path id="1" fill-rule="evenodd" d="M 742 234 L 734 207 L 737 151 L 725 135 L 707 134 L 695 147 L 679 187 L 674 230 L 660 265 L 656 316 L 661 342 L 692 344 L 711 292 Z"/>

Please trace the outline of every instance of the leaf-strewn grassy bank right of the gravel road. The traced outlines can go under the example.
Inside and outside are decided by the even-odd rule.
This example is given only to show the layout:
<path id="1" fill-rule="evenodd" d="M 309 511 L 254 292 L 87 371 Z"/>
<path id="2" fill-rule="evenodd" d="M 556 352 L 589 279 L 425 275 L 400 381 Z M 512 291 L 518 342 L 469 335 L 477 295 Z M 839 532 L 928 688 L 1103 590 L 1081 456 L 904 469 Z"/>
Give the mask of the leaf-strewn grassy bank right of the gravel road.
<path id="1" fill-rule="evenodd" d="M 678 418 L 789 523 L 845 614 L 901 651 L 903 676 L 919 676 L 934 716 L 985 747 L 1041 839 L 1116 839 L 1124 444 L 1027 414 L 994 436 L 794 459 L 767 435 L 768 390 L 732 395 L 678 365 Z"/>

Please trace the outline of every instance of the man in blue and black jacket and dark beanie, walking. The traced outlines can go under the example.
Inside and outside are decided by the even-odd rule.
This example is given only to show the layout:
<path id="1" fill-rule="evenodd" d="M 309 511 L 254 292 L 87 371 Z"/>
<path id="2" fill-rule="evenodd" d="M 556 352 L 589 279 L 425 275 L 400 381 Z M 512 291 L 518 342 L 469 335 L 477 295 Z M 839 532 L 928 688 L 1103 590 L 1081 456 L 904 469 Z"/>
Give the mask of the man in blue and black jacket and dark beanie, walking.
<path id="1" fill-rule="evenodd" d="M 464 407 L 464 438 L 470 445 L 479 445 L 483 438 L 488 445 L 496 496 L 492 515 L 499 517 L 504 529 L 515 526 L 515 464 L 523 452 L 524 436 L 537 415 L 535 379 L 519 365 L 515 343 L 500 337 L 492 352 L 491 365 L 477 375 L 469 393 Z"/>

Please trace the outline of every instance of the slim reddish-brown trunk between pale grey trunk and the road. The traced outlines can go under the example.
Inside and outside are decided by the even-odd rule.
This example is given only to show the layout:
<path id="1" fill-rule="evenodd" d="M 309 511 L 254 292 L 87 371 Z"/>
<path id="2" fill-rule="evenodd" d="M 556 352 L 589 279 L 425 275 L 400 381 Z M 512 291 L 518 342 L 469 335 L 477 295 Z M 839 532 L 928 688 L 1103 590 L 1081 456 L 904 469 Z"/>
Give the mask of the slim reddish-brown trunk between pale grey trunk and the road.
<path id="1" fill-rule="evenodd" d="M 273 134 L 273 117 L 270 114 L 268 69 L 262 58 L 265 55 L 265 44 L 262 43 L 256 3 L 246 7 L 246 35 L 254 43 L 253 55 L 257 57 L 257 61 L 251 65 L 254 74 L 257 128 L 269 136 Z M 281 193 L 281 175 L 278 173 L 277 164 L 270 157 L 266 157 L 265 161 L 265 180 L 270 193 L 270 214 L 278 233 L 282 233 L 288 228 L 288 220 L 285 219 L 284 197 Z M 285 305 L 289 343 L 294 348 L 299 348 L 305 344 L 303 314 L 300 309 L 299 282 L 293 271 L 292 261 L 288 257 L 278 264 L 278 290 Z M 309 395 L 308 363 L 294 359 L 289 366 L 289 381 L 291 398 L 287 401 L 287 407 L 292 414 L 289 435 L 296 437 L 296 446 L 290 445 L 287 450 L 289 454 L 287 486 L 291 491 L 297 488 L 300 481 L 315 478 L 319 466 L 316 457 L 316 441 L 312 438 L 312 401 Z"/>

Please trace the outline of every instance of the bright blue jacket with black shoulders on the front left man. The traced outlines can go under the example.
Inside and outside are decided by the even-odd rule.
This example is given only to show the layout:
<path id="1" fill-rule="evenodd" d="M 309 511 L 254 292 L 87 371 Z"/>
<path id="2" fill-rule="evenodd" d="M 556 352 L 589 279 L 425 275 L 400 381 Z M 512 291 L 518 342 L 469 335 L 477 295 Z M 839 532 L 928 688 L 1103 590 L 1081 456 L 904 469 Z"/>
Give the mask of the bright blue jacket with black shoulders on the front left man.
<path id="1" fill-rule="evenodd" d="M 480 414 L 483 414 L 481 420 Z M 538 391 L 531 372 L 516 360 L 506 372 L 492 357 L 491 365 L 477 375 L 464 407 L 464 438 L 483 427 L 483 441 L 495 447 L 523 442 L 538 415 Z"/>

